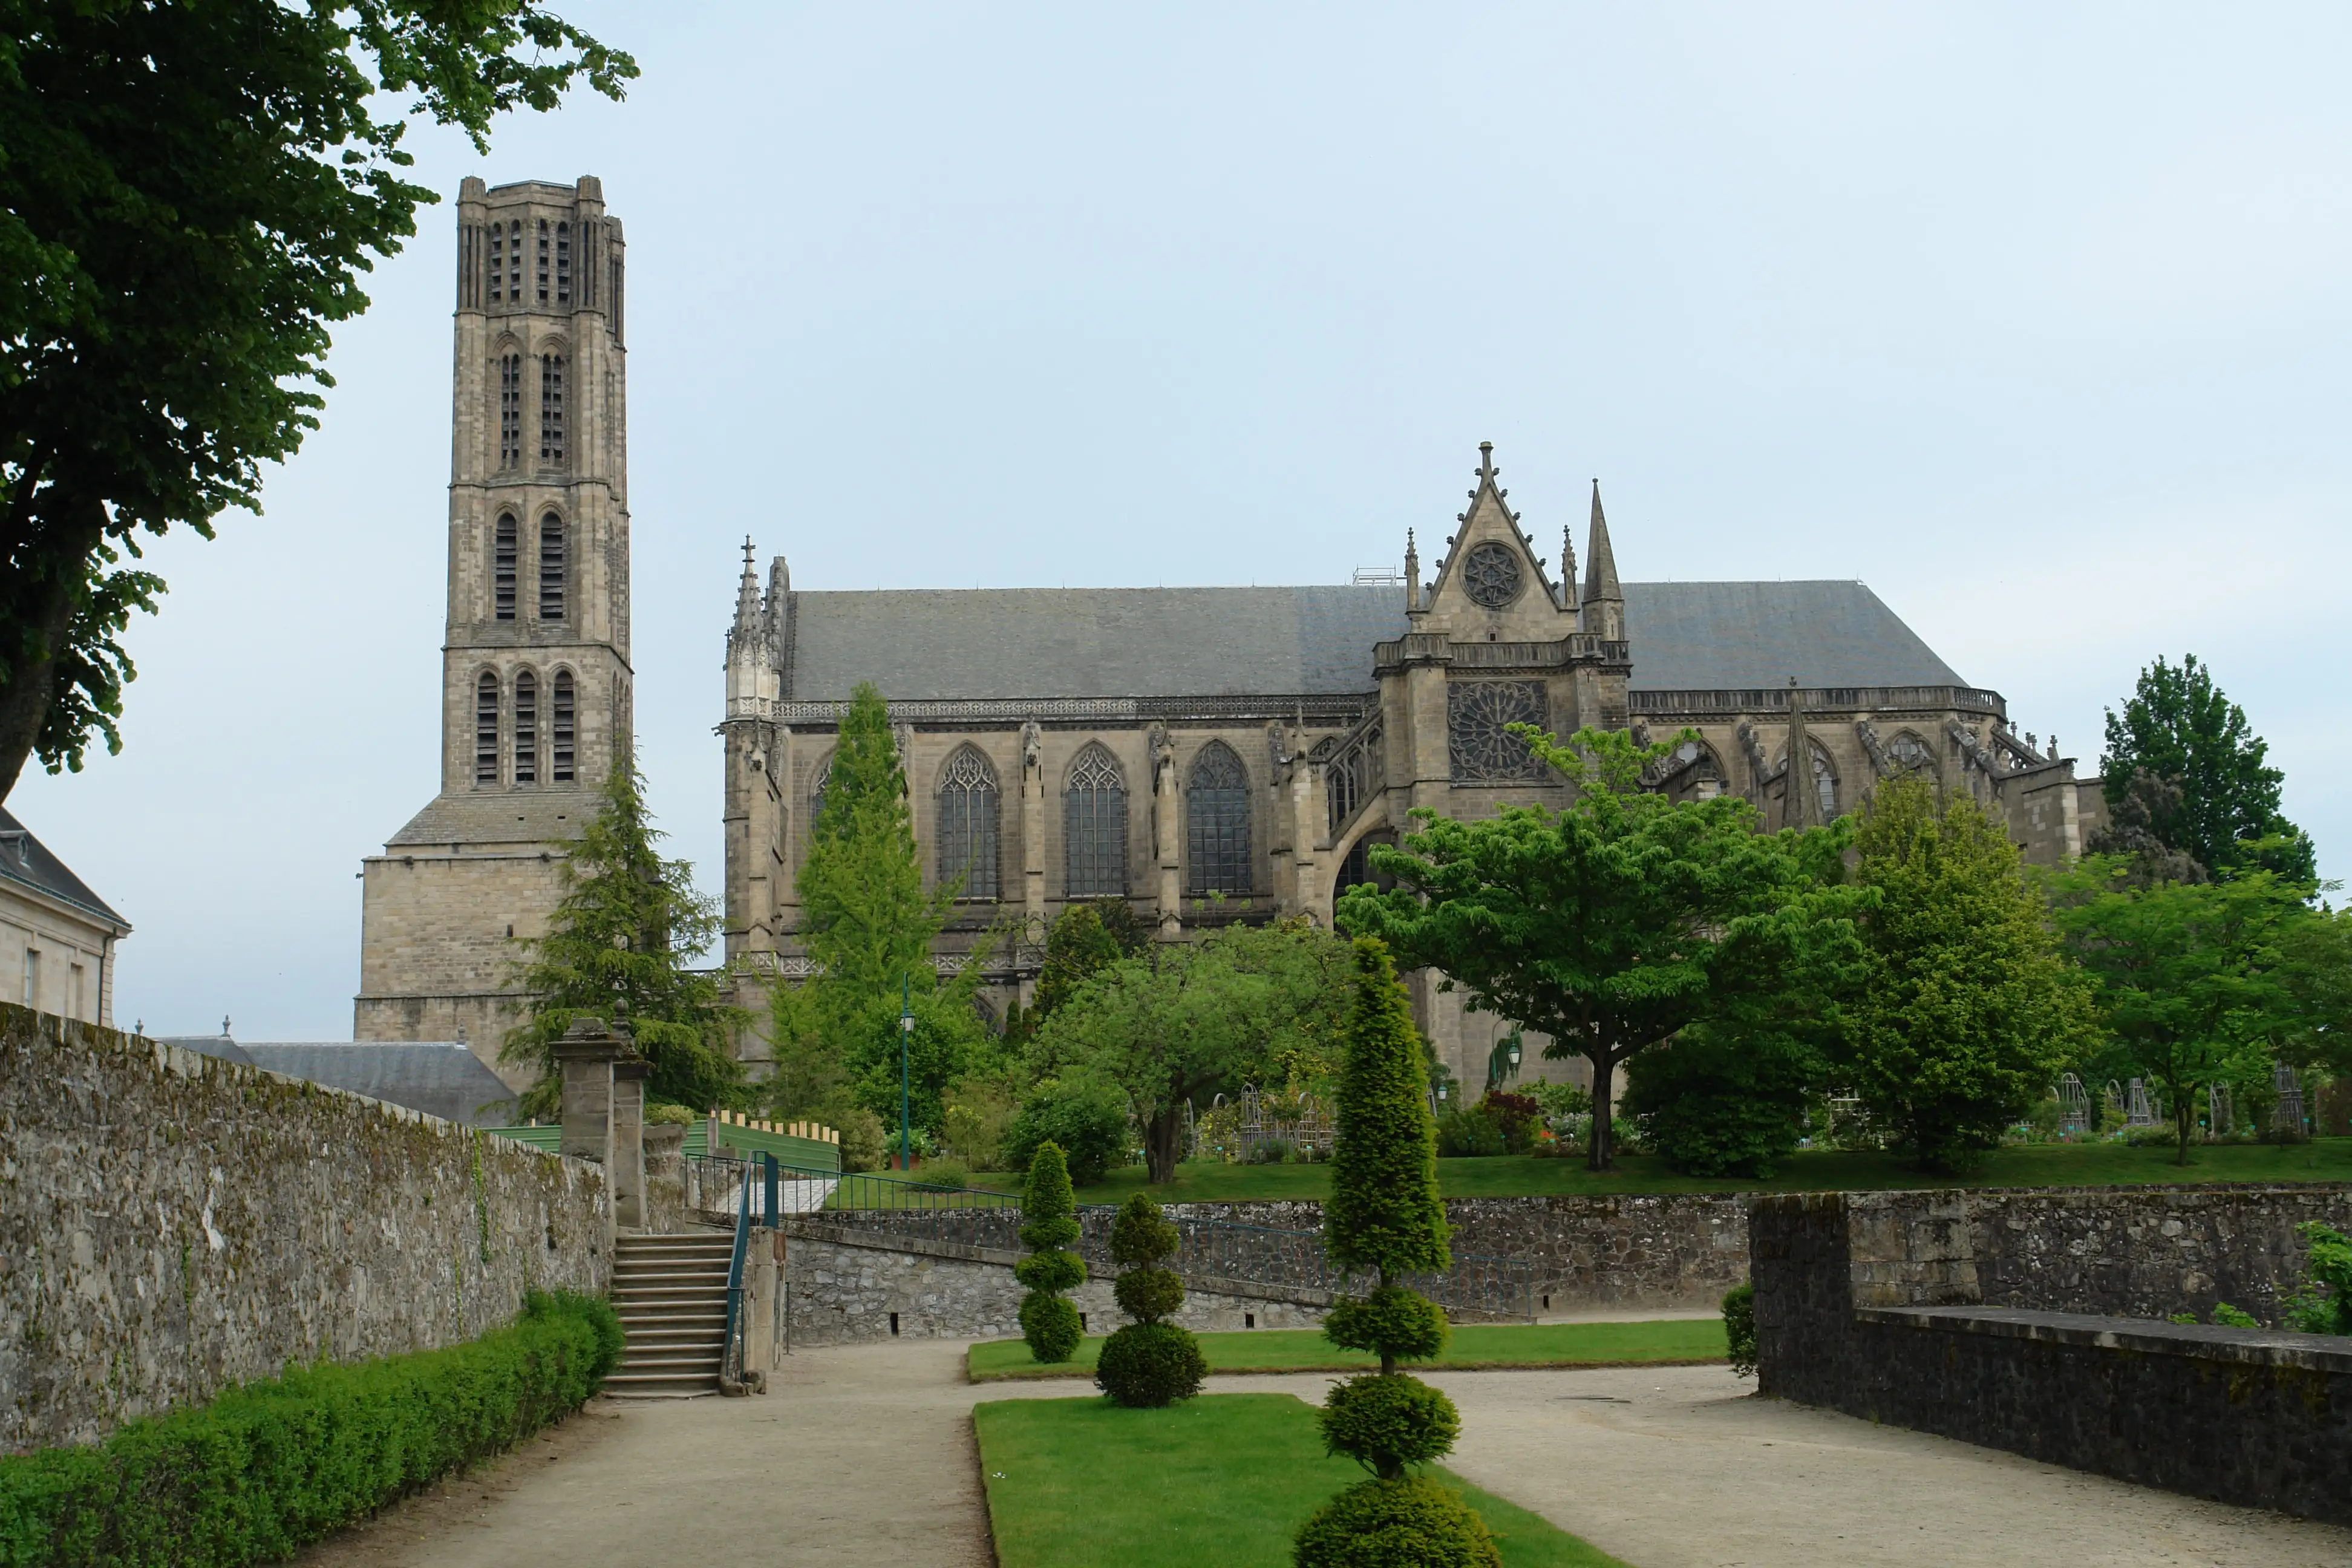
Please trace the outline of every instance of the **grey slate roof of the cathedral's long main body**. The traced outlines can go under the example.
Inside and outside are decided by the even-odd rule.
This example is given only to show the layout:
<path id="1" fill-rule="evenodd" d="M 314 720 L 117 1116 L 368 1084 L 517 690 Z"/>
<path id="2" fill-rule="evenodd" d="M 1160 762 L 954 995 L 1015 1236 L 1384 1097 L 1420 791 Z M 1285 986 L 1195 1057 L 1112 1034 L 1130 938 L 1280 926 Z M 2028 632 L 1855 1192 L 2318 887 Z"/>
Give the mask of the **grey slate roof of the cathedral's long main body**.
<path id="1" fill-rule="evenodd" d="M 1625 583 L 1637 691 L 1959 686 L 1863 583 Z M 1404 595 L 1334 588 L 934 588 L 793 595 L 786 696 L 891 701 L 1371 691 Z M 435 802 L 437 806 L 440 802 Z M 426 816 L 430 816 L 430 806 Z M 397 842 L 428 842 L 416 825 Z M 414 835 L 414 839 L 412 839 Z"/>

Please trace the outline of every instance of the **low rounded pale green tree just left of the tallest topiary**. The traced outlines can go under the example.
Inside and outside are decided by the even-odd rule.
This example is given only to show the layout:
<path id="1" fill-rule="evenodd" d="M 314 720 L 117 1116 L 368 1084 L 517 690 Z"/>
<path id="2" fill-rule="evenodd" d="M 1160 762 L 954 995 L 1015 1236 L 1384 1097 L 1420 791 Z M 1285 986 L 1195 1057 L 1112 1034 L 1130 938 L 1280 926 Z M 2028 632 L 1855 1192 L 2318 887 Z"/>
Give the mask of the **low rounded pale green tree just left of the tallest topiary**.
<path id="1" fill-rule="evenodd" d="M 1218 1088 L 1319 1077 L 1345 1006 L 1348 947 L 1329 931 L 1225 926 L 1098 971 L 1044 1020 L 1030 1065 L 1127 1091 L 1150 1180 L 1174 1182 L 1185 1105 Z"/>

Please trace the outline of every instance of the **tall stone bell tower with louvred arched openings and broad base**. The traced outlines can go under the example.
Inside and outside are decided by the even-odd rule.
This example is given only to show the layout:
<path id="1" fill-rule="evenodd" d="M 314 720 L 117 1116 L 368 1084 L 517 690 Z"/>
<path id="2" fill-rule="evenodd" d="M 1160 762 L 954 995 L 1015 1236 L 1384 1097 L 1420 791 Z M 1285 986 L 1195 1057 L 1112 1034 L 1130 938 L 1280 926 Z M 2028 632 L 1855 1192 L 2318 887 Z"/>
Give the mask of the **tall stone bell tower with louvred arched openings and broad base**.
<path id="1" fill-rule="evenodd" d="M 626 273 L 595 179 L 468 179 L 456 223 L 440 795 L 362 863 L 353 1037 L 499 1065 L 513 938 L 628 752 Z"/>

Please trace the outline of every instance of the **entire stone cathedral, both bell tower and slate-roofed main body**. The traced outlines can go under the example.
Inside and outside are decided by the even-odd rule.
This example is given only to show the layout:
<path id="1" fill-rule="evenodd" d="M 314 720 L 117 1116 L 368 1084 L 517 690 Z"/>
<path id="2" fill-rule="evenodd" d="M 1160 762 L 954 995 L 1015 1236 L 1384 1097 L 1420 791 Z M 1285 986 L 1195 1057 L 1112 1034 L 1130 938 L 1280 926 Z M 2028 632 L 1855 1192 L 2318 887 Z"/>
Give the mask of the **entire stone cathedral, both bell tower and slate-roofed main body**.
<path id="1" fill-rule="evenodd" d="M 459 193 L 442 785 L 362 867 L 355 1039 L 463 1039 L 520 1018 L 513 940 L 630 736 L 621 223 L 595 179 Z M 1432 508 L 1435 510 L 1435 508 Z M 1439 512 L 1442 517 L 1442 512 Z M 1583 557 L 1522 527 L 1482 444 L 1423 562 L 1298 588 L 795 588 L 746 543 L 727 630 L 727 966 L 755 1001 L 807 976 L 795 872 L 858 682 L 889 701 L 934 886 L 934 964 L 988 947 L 983 999 L 1028 1001 L 1073 900 L 1124 898 L 1164 940 L 1303 914 L 1367 879 L 1414 809 L 1564 804 L 1508 724 L 1682 738 L 1649 785 L 1823 823 L 1882 778 L 1966 790 L 2030 860 L 2082 851 L 2098 780 L 2011 729 L 1856 581 L 1621 581 L 1590 496 Z M 1442 543 L 1437 543 L 1442 538 Z M 1632 536 L 1630 536 L 1632 538 Z M 1475 1081 L 1510 1030 L 1414 976 L 1423 1032 Z M 757 1060 L 764 1048 L 746 1041 Z M 1578 1077 L 1583 1063 L 1526 1074 Z"/>

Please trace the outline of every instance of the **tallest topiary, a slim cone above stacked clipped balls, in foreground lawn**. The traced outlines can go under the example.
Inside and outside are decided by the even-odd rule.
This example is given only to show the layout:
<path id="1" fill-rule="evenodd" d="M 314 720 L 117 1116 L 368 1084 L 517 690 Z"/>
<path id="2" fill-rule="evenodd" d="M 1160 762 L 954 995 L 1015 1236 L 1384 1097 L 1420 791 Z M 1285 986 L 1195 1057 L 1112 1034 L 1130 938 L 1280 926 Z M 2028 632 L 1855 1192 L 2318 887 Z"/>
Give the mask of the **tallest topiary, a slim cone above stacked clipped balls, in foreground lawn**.
<path id="1" fill-rule="evenodd" d="M 1397 1361 L 1428 1359 L 1446 1345 L 1437 1302 L 1399 1279 L 1435 1274 L 1451 1255 L 1421 1037 L 1388 947 L 1369 936 L 1355 943 L 1345 1051 L 1324 1251 L 1343 1272 L 1369 1272 L 1376 1284 L 1362 1300 L 1331 1309 L 1324 1338 L 1374 1352 L 1381 1371 L 1334 1387 L 1322 1429 L 1331 1453 L 1345 1453 L 1374 1479 L 1327 1502 L 1298 1530 L 1291 1561 L 1484 1568 L 1501 1559 L 1477 1514 L 1444 1486 L 1406 1474 L 1409 1465 L 1454 1450 L 1461 1415 L 1451 1399 L 1397 1371 Z"/>

